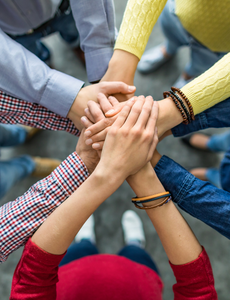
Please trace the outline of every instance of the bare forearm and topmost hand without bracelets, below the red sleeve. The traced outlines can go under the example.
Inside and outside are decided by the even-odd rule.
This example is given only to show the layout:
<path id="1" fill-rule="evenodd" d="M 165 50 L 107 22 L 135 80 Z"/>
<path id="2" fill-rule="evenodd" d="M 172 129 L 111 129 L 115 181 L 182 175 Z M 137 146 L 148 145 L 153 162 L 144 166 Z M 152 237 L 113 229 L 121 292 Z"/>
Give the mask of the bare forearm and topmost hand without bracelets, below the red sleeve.
<path id="1" fill-rule="evenodd" d="M 157 143 L 157 104 L 142 98 L 135 104 L 126 105 L 110 127 L 93 174 L 33 235 L 32 241 L 41 249 L 52 254 L 64 253 L 98 206 L 152 157 Z"/>

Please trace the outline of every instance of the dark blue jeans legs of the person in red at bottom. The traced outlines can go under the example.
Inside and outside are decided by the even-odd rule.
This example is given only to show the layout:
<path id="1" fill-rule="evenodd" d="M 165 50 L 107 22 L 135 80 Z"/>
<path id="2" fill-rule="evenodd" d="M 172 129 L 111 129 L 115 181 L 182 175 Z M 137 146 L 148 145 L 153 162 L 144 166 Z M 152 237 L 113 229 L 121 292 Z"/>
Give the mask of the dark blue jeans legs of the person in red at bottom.
<path id="1" fill-rule="evenodd" d="M 91 243 L 91 241 L 83 239 L 79 243 L 72 244 L 68 248 L 67 253 L 62 259 L 59 266 L 61 267 L 75 259 L 94 254 L 99 254 L 97 247 L 93 243 Z M 139 264 L 145 265 L 154 270 L 160 276 L 156 264 L 144 249 L 134 245 L 127 245 L 120 250 L 118 255 L 124 256 Z"/>

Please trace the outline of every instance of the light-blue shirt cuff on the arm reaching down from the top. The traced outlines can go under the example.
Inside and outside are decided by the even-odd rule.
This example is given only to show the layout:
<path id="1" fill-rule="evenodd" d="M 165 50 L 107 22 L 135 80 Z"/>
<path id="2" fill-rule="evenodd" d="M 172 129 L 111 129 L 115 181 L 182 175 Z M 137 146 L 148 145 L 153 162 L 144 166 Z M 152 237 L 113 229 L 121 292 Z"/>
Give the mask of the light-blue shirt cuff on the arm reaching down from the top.
<path id="1" fill-rule="evenodd" d="M 85 52 L 86 71 L 89 82 L 101 80 L 108 69 L 112 55 L 113 47 Z"/>

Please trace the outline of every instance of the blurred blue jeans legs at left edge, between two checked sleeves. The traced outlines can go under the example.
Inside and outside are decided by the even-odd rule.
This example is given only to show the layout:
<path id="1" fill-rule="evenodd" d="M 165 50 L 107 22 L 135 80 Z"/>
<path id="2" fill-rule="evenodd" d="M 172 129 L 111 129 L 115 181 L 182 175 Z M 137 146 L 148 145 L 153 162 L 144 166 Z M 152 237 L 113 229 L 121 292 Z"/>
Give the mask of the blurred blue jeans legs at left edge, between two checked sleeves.
<path id="1" fill-rule="evenodd" d="M 17 125 L 0 124 L 0 147 L 17 146 L 25 142 L 27 132 Z M 29 155 L 0 161 L 0 199 L 19 180 L 30 175 L 35 163 Z"/>

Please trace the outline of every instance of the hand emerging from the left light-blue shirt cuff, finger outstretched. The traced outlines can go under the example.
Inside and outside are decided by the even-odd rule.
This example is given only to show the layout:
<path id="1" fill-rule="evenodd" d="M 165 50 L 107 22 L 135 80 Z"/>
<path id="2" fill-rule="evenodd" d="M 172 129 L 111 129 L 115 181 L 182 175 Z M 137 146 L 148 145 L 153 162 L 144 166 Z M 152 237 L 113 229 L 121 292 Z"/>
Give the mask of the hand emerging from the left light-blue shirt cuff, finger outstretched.
<path id="1" fill-rule="evenodd" d="M 89 100 L 97 102 L 98 93 L 109 96 L 114 93 L 132 94 L 135 90 L 136 88 L 134 86 L 129 86 L 123 82 L 101 82 L 86 86 L 78 93 L 67 117 L 73 121 L 74 125 L 79 130 L 81 130 L 83 126 L 80 119 L 84 116 L 84 109 L 87 107 L 87 102 Z"/>

